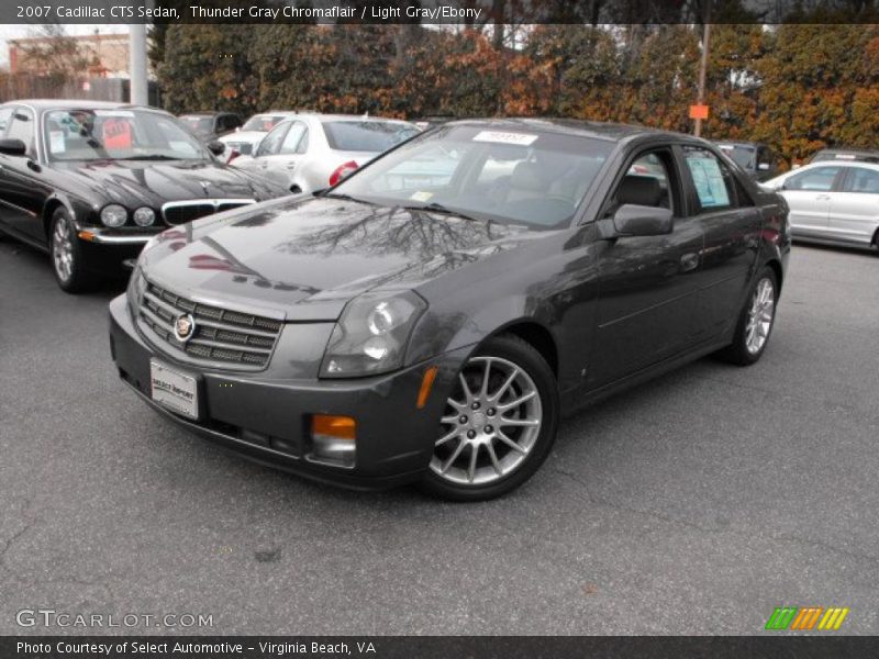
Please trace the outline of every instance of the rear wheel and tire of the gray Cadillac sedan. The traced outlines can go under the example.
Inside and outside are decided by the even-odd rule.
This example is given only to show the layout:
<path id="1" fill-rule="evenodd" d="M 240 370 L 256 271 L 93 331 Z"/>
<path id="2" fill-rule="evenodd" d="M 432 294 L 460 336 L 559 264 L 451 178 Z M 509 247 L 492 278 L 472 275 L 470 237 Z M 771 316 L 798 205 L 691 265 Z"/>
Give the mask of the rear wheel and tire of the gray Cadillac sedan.
<path id="1" fill-rule="evenodd" d="M 725 361 L 738 366 L 756 364 L 763 356 L 776 321 L 778 278 L 772 268 L 764 268 L 748 291 L 738 314 L 733 343 L 717 353 Z"/>

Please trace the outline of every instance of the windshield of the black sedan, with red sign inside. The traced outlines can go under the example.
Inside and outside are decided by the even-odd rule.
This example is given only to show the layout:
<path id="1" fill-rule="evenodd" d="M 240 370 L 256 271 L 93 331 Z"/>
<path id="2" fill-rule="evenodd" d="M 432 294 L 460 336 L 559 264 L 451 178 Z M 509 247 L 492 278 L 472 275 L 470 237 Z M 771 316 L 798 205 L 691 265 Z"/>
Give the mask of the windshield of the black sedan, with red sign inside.
<path id="1" fill-rule="evenodd" d="M 52 160 L 205 159 L 204 147 L 166 114 L 144 110 L 52 110 L 45 142 Z"/>

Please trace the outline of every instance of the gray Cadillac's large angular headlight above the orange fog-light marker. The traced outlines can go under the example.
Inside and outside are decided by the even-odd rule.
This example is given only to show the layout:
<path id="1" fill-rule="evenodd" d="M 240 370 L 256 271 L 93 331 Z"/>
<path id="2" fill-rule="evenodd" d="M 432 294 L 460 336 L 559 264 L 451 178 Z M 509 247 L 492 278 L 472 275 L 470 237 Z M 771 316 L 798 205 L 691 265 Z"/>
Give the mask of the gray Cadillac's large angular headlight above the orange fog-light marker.
<path id="1" fill-rule="evenodd" d="M 333 330 L 321 377 L 353 378 L 400 368 L 412 327 L 426 309 L 412 291 L 355 298 Z"/>

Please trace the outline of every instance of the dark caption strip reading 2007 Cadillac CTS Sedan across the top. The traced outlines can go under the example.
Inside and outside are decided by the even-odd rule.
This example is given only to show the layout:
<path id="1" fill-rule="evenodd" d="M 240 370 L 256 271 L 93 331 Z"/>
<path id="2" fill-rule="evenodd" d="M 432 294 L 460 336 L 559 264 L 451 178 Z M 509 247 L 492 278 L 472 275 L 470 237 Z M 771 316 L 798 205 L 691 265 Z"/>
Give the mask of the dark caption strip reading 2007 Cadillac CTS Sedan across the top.
<path id="1" fill-rule="evenodd" d="M 0 23 L 876 23 L 842 0 L 3 0 Z"/>

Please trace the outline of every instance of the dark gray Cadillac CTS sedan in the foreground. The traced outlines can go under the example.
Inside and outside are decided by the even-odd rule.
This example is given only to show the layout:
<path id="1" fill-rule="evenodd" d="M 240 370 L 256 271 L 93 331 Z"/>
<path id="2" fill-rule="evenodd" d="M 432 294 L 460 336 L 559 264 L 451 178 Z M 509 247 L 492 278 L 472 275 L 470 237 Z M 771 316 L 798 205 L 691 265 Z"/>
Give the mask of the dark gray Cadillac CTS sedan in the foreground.
<path id="1" fill-rule="evenodd" d="M 454 122 L 314 197 L 159 234 L 110 304 L 113 359 L 259 462 L 488 499 L 563 413 L 710 353 L 757 361 L 787 214 L 687 135 Z"/>

